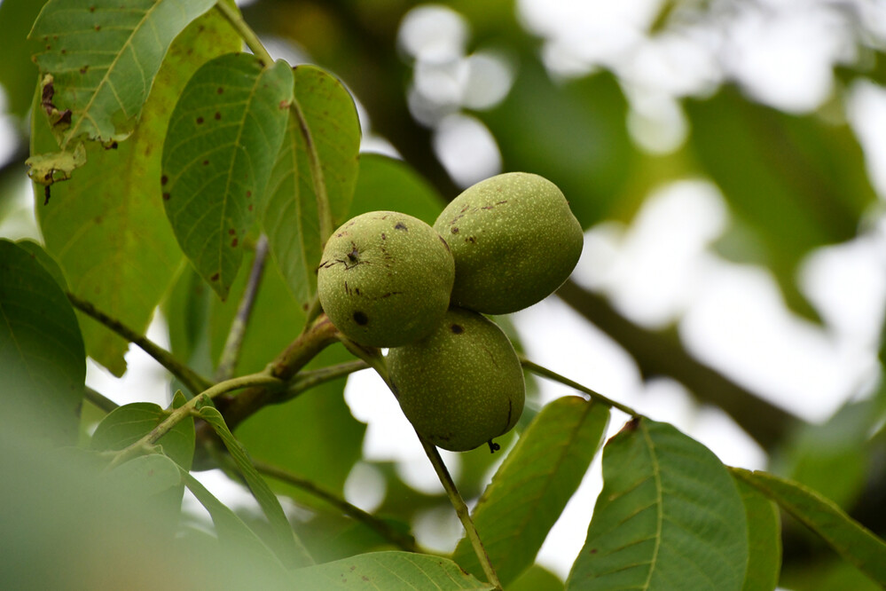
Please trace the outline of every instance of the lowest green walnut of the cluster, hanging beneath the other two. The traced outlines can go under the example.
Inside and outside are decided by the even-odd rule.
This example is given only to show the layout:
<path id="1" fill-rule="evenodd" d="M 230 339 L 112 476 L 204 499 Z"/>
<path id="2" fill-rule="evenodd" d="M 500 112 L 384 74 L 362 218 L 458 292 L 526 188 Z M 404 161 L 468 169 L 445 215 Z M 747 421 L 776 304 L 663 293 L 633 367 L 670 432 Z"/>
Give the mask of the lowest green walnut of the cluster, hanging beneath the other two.
<path id="1" fill-rule="evenodd" d="M 523 412 L 520 360 L 501 328 L 451 308 L 430 335 L 388 351 L 388 374 L 412 426 L 434 445 L 466 452 L 504 435 Z"/>

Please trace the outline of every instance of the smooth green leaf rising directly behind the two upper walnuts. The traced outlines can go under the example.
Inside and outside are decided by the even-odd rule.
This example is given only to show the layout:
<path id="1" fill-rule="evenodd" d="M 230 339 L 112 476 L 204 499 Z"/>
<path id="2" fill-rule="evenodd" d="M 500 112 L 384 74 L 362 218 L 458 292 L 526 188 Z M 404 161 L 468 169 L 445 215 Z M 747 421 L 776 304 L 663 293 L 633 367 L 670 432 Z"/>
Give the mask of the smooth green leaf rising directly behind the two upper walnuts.
<path id="1" fill-rule="evenodd" d="M 360 174 L 348 217 L 367 211 L 400 211 L 434 225 L 445 204 L 434 186 L 406 162 L 381 154 L 360 155 Z"/>

